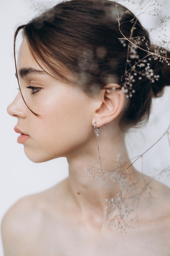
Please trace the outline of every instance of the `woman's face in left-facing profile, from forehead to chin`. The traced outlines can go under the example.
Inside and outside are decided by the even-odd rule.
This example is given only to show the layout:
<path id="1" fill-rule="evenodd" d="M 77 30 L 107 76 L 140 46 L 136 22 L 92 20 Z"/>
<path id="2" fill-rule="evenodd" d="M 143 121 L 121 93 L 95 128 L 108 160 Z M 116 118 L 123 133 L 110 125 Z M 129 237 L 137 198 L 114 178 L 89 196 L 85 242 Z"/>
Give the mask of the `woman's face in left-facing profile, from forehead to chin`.
<path id="1" fill-rule="evenodd" d="M 7 111 L 18 118 L 15 131 L 21 134 L 18 143 L 24 145 L 27 157 L 45 162 L 79 152 L 93 131 L 93 99 L 44 72 L 25 40 L 19 50 L 17 72 L 20 91 Z"/>

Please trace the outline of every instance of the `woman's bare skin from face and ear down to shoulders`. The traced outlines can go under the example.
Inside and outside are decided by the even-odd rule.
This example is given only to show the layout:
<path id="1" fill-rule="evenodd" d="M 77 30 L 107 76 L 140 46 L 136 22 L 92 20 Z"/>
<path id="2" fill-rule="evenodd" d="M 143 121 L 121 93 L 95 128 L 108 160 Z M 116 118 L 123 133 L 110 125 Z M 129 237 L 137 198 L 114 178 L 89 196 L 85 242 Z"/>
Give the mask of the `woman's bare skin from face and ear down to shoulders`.
<path id="1" fill-rule="evenodd" d="M 18 71 L 40 69 L 25 42 L 17 65 Z M 2 221 L 4 255 L 169 256 L 170 189 L 142 176 L 133 166 L 128 168 L 124 134 L 119 129 L 121 110 L 126 107 L 124 93 L 102 90 L 97 97 L 90 98 L 82 90 L 59 83 L 46 73 L 34 72 L 24 78 L 19 74 L 19 80 L 24 99 L 41 116 L 27 108 L 20 92 L 8 108 L 9 114 L 18 119 L 16 127 L 29 136 L 23 143 L 26 155 L 34 162 L 66 157 L 69 177 L 47 191 L 19 200 L 9 209 Z M 41 89 L 30 94 L 30 85 L 33 90 Z M 114 182 L 97 182 L 84 168 L 85 164 L 101 168 L 95 121 L 101 127 L 103 172 L 117 170 L 117 164 L 124 170 Z M 105 199 L 119 191 L 123 177 L 127 177 L 124 187 L 130 187 L 130 182 L 137 184 L 136 190 L 122 190 L 122 195 L 132 198 L 132 212 L 125 220 L 135 228 L 127 229 L 128 234 L 109 226 L 117 212 L 113 211 L 109 220 L 104 218 Z M 135 195 L 146 184 L 152 198 L 144 193 L 137 204 Z"/>

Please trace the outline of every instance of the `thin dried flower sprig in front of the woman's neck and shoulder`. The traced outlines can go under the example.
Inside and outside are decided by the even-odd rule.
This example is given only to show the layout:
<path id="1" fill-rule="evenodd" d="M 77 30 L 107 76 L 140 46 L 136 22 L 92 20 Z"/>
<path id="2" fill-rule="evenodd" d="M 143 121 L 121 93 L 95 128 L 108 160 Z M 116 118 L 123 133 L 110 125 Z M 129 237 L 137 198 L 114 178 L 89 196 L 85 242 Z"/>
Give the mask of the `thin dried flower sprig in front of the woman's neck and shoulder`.
<path id="1" fill-rule="evenodd" d="M 149 185 L 150 181 L 147 182 L 143 175 L 143 157 L 165 136 L 168 138 L 168 144 L 170 147 L 170 125 L 163 133 L 163 135 L 157 139 L 154 144 L 152 144 L 152 146 L 145 150 L 141 155 L 138 155 L 137 157 L 129 160 L 130 164 L 125 170 L 121 169 L 122 165 L 117 165 L 117 170 L 101 170 L 100 168 L 95 168 L 93 166 L 85 166 L 86 173 L 88 173 L 89 176 L 92 176 L 92 179 L 98 180 L 102 183 L 108 180 L 109 183 L 116 183 L 116 185 L 119 187 L 114 195 L 111 195 L 109 198 L 105 199 L 107 206 L 104 218 L 106 218 L 109 225 L 112 225 L 115 227 L 115 229 L 119 229 L 120 231 L 125 231 L 127 233 L 128 228 L 134 227 L 132 220 L 137 218 L 137 216 L 133 216 L 133 218 L 130 219 L 130 223 L 127 223 L 126 218 L 130 216 L 130 214 L 134 212 L 135 209 L 137 209 L 141 198 L 145 197 L 148 200 L 149 205 L 151 205 L 151 203 L 155 203 L 155 198 L 152 196 L 152 189 Z M 138 159 L 142 160 L 141 177 L 139 180 L 134 182 L 131 180 L 131 174 L 128 173 L 128 169 Z M 127 163 L 128 162 L 125 164 Z M 164 173 L 170 176 L 170 166 L 161 170 L 157 176 L 162 176 Z M 144 186 L 138 186 L 139 181 L 142 182 Z"/>

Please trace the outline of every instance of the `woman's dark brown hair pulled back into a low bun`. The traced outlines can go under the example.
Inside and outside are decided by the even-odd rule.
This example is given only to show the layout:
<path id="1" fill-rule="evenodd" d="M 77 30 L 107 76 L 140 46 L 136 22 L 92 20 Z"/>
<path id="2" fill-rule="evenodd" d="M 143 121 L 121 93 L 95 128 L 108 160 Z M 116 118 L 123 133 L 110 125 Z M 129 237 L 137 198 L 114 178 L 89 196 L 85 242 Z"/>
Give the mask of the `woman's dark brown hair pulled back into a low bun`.
<path id="1" fill-rule="evenodd" d="M 124 130 L 147 120 L 152 97 L 161 96 L 164 86 L 170 85 L 170 52 L 152 46 L 146 29 L 121 4 L 108 0 L 57 4 L 18 27 L 14 48 L 20 30 L 38 63 L 89 96 L 118 83 L 128 98 L 120 121 Z"/>

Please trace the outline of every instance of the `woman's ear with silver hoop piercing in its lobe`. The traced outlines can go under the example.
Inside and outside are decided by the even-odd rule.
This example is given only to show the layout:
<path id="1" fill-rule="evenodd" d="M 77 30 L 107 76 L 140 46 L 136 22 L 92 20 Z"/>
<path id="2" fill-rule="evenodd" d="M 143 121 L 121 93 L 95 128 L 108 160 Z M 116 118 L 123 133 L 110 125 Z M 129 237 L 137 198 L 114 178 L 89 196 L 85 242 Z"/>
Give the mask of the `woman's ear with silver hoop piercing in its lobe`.
<path id="1" fill-rule="evenodd" d="M 105 88 L 99 94 L 98 104 L 93 114 L 92 125 L 96 122 L 98 127 L 113 121 L 124 106 L 124 92 L 119 85 L 111 83 Z"/>

